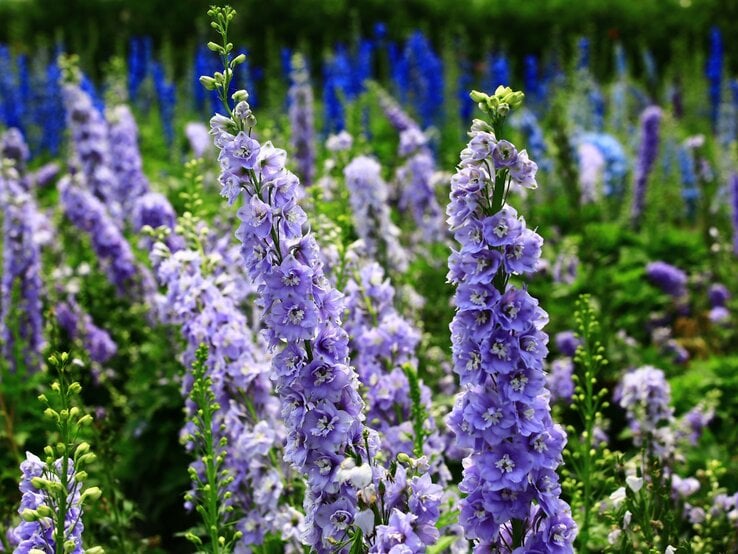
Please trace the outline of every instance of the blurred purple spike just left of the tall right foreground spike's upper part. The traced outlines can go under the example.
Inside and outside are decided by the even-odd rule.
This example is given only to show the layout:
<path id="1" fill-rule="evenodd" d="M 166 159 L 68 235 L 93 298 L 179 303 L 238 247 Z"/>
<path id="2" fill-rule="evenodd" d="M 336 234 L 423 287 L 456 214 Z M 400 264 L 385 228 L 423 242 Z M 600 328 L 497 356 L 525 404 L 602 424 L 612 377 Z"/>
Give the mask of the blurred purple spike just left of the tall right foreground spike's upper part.
<path id="1" fill-rule="evenodd" d="M 423 241 L 439 241 L 443 237 L 443 210 L 436 198 L 436 163 L 428 137 L 418 127 L 402 131 L 399 154 L 405 161 L 395 172 L 402 189 L 398 207 L 410 211 Z"/>

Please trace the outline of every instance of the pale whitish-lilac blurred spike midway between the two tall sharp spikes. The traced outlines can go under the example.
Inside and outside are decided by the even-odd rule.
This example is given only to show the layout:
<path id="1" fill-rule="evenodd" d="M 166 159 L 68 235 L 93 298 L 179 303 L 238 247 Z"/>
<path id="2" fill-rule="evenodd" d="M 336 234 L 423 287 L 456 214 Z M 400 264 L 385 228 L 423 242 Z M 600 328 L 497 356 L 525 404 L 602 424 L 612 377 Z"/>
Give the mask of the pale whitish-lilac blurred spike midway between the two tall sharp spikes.
<path id="1" fill-rule="evenodd" d="M 354 228 L 364 242 L 366 255 L 387 268 L 404 271 L 407 252 L 400 244 L 400 231 L 392 222 L 387 183 L 382 167 L 373 158 L 358 156 L 344 169 Z"/>

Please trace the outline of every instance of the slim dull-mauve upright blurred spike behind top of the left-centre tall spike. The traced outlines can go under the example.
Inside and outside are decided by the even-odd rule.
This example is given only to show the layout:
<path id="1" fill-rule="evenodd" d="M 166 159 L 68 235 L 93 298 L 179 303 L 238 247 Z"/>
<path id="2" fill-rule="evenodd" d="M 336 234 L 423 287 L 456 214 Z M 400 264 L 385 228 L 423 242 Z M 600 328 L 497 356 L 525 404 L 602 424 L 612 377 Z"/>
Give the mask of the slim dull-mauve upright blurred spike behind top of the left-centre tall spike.
<path id="1" fill-rule="evenodd" d="M 313 87 L 305 59 L 292 57 L 292 86 L 289 90 L 289 116 L 292 130 L 292 149 L 297 173 L 303 185 L 309 186 L 315 178 L 315 117 L 313 114 Z"/>

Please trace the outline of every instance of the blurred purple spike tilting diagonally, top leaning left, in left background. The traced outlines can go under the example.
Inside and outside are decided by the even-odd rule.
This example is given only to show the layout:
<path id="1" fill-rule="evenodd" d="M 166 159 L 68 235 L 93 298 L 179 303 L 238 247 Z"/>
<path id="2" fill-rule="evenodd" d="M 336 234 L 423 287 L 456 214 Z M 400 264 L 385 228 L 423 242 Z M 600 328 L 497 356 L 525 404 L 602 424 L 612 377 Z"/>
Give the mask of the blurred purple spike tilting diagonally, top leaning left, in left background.
<path id="1" fill-rule="evenodd" d="M 61 203 L 69 221 L 90 236 L 92 249 L 119 294 L 129 288 L 137 274 L 131 246 L 93 194 L 65 177 L 59 182 Z"/>

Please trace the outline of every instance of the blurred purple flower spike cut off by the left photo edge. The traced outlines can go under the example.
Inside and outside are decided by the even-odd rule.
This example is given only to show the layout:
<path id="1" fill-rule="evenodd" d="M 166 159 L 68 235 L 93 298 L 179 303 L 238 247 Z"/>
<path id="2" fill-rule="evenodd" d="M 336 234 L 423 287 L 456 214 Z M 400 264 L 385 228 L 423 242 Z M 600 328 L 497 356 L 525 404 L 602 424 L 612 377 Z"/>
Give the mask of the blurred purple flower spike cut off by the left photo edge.
<path id="1" fill-rule="evenodd" d="M 6 165 L 7 164 L 7 165 Z M 43 337 L 41 251 L 35 240 L 42 216 L 23 190 L 13 162 L 0 158 L 0 213 L 2 214 L 2 280 L 0 281 L 0 342 L 11 370 L 23 360 L 26 371 L 41 367 Z M 18 301 L 14 302 L 14 289 Z M 12 321 L 13 318 L 16 321 Z M 15 330 L 13 330 L 15 329 Z M 21 346 L 22 345 L 22 346 Z M 22 348 L 22 356 L 17 350 Z"/>

